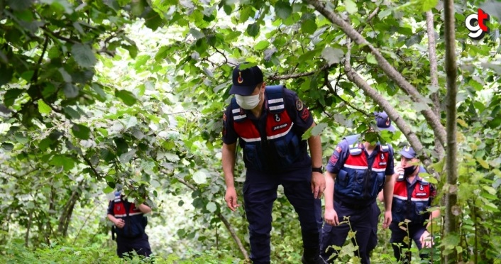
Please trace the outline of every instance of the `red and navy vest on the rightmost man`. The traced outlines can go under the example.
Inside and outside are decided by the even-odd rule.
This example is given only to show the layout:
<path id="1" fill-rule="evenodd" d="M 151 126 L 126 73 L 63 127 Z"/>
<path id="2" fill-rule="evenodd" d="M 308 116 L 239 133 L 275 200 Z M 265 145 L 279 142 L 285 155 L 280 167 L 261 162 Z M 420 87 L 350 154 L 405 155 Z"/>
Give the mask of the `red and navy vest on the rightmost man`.
<path id="1" fill-rule="evenodd" d="M 429 182 L 417 177 L 412 194 L 407 193 L 407 180 L 398 177 L 393 189 L 392 219 L 400 223 L 409 219 L 411 224 L 423 224 L 429 219 L 426 208 L 429 205 L 431 189 Z"/>

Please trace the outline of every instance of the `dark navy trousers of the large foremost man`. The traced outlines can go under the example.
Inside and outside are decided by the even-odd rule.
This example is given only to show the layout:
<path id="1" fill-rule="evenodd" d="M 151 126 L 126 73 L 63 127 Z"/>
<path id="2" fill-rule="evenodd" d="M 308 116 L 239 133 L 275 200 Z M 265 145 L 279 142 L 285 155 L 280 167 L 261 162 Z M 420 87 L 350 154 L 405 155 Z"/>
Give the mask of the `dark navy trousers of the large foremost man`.
<path id="1" fill-rule="evenodd" d="M 292 172 L 247 171 L 243 185 L 243 201 L 249 223 L 249 241 L 253 263 L 270 263 L 270 231 L 272 207 L 278 185 L 299 216 L 304 255 L 319 254 L 321 233 L 321 200 L 314 199 L 311 188 L 312 168 Z"/>

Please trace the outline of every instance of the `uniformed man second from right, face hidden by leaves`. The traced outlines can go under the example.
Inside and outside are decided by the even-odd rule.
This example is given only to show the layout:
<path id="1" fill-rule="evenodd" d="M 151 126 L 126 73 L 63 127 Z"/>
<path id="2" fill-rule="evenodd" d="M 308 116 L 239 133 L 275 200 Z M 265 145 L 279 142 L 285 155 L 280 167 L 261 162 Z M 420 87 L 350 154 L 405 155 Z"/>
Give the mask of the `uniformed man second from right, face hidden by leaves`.
<path id="1" fill-rule="evenodd" d="M 395 131 L 385 112 L 375 113 L 380 130 Z M 369 129 L 360 135 L 348 136 L 338 143 L 326 167 L 325 213 L 322 229 L 321 256 L 334 263 L 338 255 L 334 246 L 342 247 L 350 228 L 356 231 L 356 255 L 361 263 L 370 263 L 369 253 L 378 243 L 378 216 L 381 211 L 375 200 L 383 189 L 386 228 L 392 220 L 393 149 L 391 145 L 370 143 L 377 131 Z M 372 141 L 372 140 L 371 140 Z M 336 184 L 334 185 L 334 182 Z M 335 188 L 334 188 L 335 186 Z M 349 216 L 348 221 L 344 216 Z"/>

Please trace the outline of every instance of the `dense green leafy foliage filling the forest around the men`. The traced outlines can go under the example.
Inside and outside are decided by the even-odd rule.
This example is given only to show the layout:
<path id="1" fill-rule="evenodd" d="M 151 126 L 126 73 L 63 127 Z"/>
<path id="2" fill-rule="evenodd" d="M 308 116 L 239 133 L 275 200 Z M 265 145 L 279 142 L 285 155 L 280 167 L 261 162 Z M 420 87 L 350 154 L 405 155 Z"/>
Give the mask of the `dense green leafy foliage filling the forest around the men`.
<path id="1" fill-rule="evenodd" d="M 399 114 L 394 121 L 402 132 L 383 133 L 380 140 L 395 148 L 410 141 L 420 149 L 419 143 L 429 171 L 436 172 L 428 179 L 439 194 L 451 192 L 437 132 L 446 118 L 441 3 L 328 1 L 324 11 L 315 3 L 1 0 L 0 246 L 6 258 L 29 253 L 26 259 L 45 259 L 47 245 L 77 243 L 94 245 L 91 253 L 112 262 L 104 194 L 116 183 L 154 208 L 148 231 L 159 255 L 189 258 L 193 250 L 209 251 L 211 259 L 246 258 L 245 214 L 226 209 L 219 154 L 229 77 L 244 61 L 260 65 L 268 84 L 286 84 L 304 99 L 319 124 L 311 133 L 321 134 L 325 157 L 343 136 L 371 126 L 373 111 Z M 464 20 L 478 6 L 490 13 L 491 32 L 474 41 Z M 456 3 L 459 179 L 453 209 L 461 220 L 459 232 L 448 236 L 442 221 L 434 225 L 437 262 L 451 250 L 475 263 L 501 258 L 500 10 L 494 1 Z M 436 70 L 426 11 L 434 23 Z M 352 42 L 346 28 L 326 18 L 329 12 L 366 43 Z M 388 74 L 378 53 L 417 95 Z M 363 82 L 353 81 L 353 72 Z M 438 123 L 425 115 L 429 109 Z M 241 187 L 242 164 L 237 169 Z M 280 195 L 272 231 L 272 258 L 280 263 L 301 255 L 295 217 Z M 388 262 L 388 233 L 380 234 L 373 257 Z M 39 251 L 9 246 L 19 239 Z M 100 249 L 104 245 L 109 251 Z M 343 254 L 343 260 L 353 256 L 349 247 Z"/>

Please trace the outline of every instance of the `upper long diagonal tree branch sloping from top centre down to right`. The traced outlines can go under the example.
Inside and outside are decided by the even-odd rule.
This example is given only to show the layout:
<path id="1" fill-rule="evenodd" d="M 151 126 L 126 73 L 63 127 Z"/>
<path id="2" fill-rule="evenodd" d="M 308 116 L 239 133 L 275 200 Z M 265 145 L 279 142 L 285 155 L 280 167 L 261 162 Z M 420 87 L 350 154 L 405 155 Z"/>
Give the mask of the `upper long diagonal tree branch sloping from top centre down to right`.
<path id="1" fill-rule="evenodd" d="M 426 101 L 424 101 L 423 97 L 419 92 L 417 91 L 416 87 L 412 86 L 407 80 L 398 72 L 395 70 L 395 68 L 390 65 L 390 62 L 388 62 L 385 57 L 382 56 L 380 51 L 375 48 L 372 44 L 370 44 L 365 38 L 363 38 L 360 33 L 358 33 L 350 24 L 348 24 L 346 21 L 343 21 L 343 19 L 338 16 L 336 13 L 334 13 L 331 10 L 326 9 L 324 4 L 322 4 L 318 0 L 305 0 L 308 4 L 311 4 L 314 6 L 316 11 L 319 11 L 322 15 L 324 15 L 331 23 L 336 24 L 346 35 L 348 35 L 349 38 L 354 40 L 358 45 L 365 45 L 367 48 L 370 50 L 370 53 L 372 53 L 375 57 L 375 59 L 378 61 L 378 65 L 380 68 L 390 77 L 395 83 L 401 87 L 404 92 L 407 94 L 411 95 L 412 99 L 414 101 L 419 102 L 424 106 L 424 110 L 421 111 L 423 114 L 424 118 L 426 121 L 429 123 L 431 128 L 434 130 L 435 136 L 439 138 L 440 143 L 442 145 L 445 145 L 446 143 L 446 130 L 444 126 L 442 126 L 441 121 L 438 116 L 434 113 L 434 111 L 431 110 L 431 108 L 426 104 Z M 397 115 L 392 115 L 396 114 L 395 111 L 392 113 L 388 113 L 388 116 L 390 116 L 390 119 L 395 120 L 399 118 Z"/>

